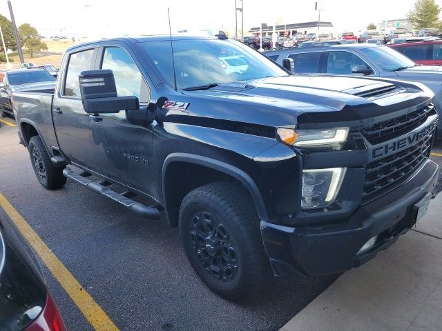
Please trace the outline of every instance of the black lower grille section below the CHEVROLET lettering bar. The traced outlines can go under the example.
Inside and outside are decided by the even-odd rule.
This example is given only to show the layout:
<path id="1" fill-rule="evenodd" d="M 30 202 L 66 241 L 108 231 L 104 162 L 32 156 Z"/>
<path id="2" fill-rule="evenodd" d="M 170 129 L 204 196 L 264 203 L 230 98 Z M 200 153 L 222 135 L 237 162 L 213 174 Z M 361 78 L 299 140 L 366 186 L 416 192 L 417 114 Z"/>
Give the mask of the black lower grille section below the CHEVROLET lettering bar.
<path id="1" fill-rule="evenodd" d="M 376 199 L 388 186 L 405 179 L 419 168 L 430 155 L 435 128 L 436 126 L 433 126 L 432 130 L 413 146 L 367 165 L 363 201 Z"/>

